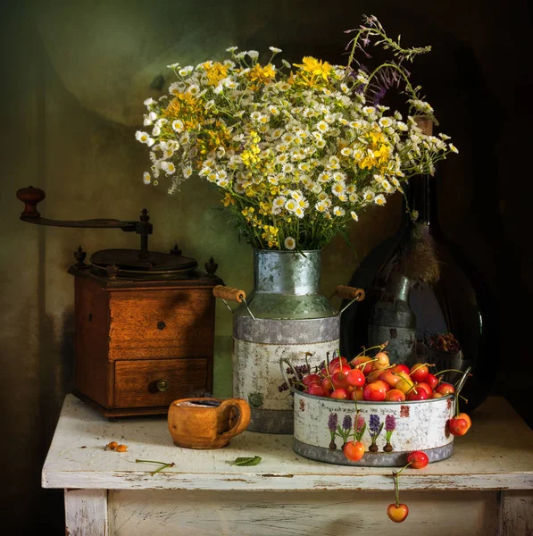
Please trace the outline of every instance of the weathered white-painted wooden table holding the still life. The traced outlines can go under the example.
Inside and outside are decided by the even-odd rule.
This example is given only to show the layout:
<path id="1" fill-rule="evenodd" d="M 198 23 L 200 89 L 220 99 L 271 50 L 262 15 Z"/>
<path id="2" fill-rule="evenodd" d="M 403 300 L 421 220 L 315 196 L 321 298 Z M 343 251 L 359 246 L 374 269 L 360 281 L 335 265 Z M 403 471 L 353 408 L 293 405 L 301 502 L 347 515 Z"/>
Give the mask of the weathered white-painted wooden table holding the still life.
<path id="1" fill-rule="evenodd" d="M 112 440 L 128 451 L 105 450 Z M 255 455 L 260 465 L 231 465 Z M 158 465 L 136 458 L 176 465 L 150 476 Z M 69 395 L 42 485 L 65 490 L 71 536 L 524 536 L 533 534 L 533 431 L 504 398 L 489 398 L 454 456 L 404 471 L 410 513 L 396 524 L 386 513 L 391 468 L 313 462 L 293 452 L 292 436 L 254 432 L 218 450 L 178 448 L 164 417 L 110 423 Z"/>

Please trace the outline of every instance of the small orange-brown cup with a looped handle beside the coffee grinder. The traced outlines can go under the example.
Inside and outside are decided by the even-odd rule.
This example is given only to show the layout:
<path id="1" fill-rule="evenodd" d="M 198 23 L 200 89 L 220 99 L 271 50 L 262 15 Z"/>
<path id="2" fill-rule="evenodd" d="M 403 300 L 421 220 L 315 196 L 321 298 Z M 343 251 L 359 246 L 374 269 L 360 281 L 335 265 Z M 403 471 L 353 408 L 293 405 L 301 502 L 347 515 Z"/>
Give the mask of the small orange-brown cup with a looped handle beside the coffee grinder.
<path id="1" fill-rule="evenodd" d="M 221 448 L 246 430 L 250 406 L 242 398 L 180 398 L 169 408 L 172 440 L 183 448 Z"/>

